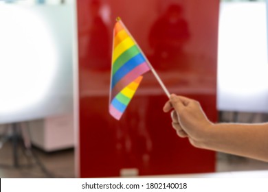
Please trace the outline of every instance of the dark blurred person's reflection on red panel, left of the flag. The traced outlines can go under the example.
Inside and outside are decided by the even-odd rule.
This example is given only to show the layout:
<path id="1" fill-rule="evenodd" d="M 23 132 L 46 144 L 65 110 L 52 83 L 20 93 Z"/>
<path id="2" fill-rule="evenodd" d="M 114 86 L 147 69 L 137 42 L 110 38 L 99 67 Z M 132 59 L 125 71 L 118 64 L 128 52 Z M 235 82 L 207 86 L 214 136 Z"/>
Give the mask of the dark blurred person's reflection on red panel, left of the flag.
<path id="1" fill-rule="evenodd" d="M 105 25 L 100 9 L 102 5 L 98 0 L 92 0 L 88 3 L 88 13 L 90 14 L 91 25 L 84 26 L 81 34 L 87 36 L 85 46 L 84 62 L 86 68 L 96 70 L 109 70 L 109 30 Z"/>

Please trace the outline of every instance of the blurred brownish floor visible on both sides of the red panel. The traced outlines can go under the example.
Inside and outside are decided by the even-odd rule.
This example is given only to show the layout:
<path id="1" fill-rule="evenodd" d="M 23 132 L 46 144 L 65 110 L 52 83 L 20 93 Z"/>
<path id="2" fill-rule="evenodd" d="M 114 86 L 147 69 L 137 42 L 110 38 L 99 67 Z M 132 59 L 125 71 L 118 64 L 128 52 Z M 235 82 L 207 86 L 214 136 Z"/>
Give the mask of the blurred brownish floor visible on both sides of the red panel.
<path id="1" fill-rule="evenodd" d="M 39 149 L 33 149 L 34 154 L 45 165 L 49 174 L 45 174 L 33 161 L 32 167 L 25 167 L 27 158 L 23 150 L 19 149 L 19 168 L 15 168 L 13 149 L 11 143 L 5 143 L 0 149 L 0 178 L 74 178 L 74 149 L 60 152 L 45 153 Z M 32 160 L 34 158 L 30 158 Z M 249 171 L 268 170 L 268 163 L 227 154 L 218 154 L 217 171 Z"/>

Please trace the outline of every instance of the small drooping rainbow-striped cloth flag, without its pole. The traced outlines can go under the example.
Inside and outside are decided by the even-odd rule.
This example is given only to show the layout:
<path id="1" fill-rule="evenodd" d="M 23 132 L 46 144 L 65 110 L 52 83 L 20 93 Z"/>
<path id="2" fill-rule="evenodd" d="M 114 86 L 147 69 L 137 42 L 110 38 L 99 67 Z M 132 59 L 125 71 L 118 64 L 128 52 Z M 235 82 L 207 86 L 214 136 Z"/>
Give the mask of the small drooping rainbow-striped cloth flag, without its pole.
<path id="1" fill-rule="evenodd" d="M 142 51 L 119 19 L 113 29 L 109 101 L 109 112 L 115 119 L 121 118 L 142 81 L 142 74 L 149 70 Z"/>

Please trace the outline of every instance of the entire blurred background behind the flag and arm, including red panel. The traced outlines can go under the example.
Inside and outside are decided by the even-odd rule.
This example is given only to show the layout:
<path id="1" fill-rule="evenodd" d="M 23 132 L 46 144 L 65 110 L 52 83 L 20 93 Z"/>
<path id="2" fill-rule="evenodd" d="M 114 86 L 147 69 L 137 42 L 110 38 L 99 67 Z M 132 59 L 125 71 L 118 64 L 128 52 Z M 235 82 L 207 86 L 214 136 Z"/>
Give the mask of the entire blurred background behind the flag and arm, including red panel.
<path id="1" fill-rule="evenodd" d="M 150 73 L 120 121 L 108 112 L 121 16 L 170 93 L 199 100 L 214 122 L 267 122 L 266 10 L 265 0 L 0 0 L 0 177 L 268 169 L 179 139 Z"/>

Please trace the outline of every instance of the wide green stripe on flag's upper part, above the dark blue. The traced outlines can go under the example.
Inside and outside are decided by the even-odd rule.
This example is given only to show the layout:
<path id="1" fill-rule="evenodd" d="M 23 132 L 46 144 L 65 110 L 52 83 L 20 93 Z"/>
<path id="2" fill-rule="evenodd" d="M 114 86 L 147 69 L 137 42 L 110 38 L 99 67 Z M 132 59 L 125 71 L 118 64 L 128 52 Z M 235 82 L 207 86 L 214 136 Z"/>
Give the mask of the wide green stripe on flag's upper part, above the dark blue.
<path id="1" fill-rule="evenodd" d="M 115 62 L 113 63 L 113 75 L 115 74 L 116 71 L 118 71 L 118 69 L 120 69 L 120 67 L 122 67 L 122 65 L 124 63 L 126 63 L 131 58 L 133 58 L 134 56 L 136 56 L 139 52 L 140 51 L 139 51 L 139 49 L 137 48 L 136 45 L 133 45 L 131 48 L 129 48 L 126 51 L 124 51 L 124 53 L 122 53 L 118 57 L 118 59 L 115 60 Z"/>

